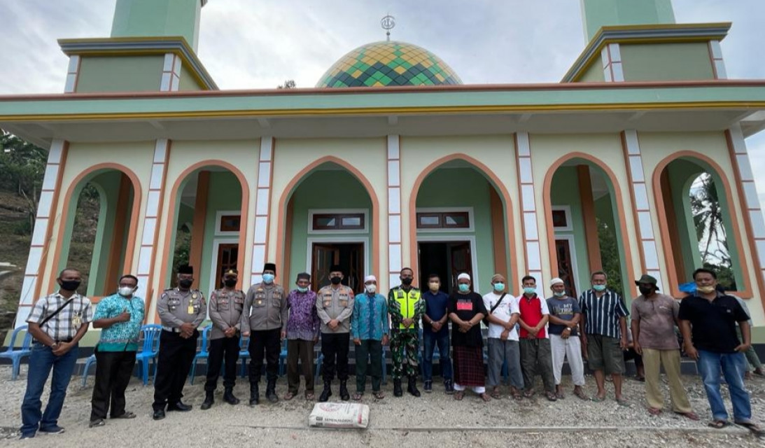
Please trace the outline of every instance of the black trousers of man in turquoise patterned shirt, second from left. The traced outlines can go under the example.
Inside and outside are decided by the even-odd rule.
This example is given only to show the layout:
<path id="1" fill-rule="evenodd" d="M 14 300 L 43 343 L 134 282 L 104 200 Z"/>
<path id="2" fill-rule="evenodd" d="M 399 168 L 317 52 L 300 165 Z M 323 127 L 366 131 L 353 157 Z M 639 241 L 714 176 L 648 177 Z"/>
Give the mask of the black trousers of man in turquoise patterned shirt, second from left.
<path id="1" fill-rule="evenodd" d="M 96 384 L 90 399 L 90 421 L 125 414 L 125 389 L 135 366 L 135 352 L 99 352 L 96 346 Z"/>

